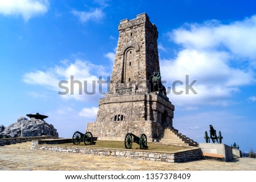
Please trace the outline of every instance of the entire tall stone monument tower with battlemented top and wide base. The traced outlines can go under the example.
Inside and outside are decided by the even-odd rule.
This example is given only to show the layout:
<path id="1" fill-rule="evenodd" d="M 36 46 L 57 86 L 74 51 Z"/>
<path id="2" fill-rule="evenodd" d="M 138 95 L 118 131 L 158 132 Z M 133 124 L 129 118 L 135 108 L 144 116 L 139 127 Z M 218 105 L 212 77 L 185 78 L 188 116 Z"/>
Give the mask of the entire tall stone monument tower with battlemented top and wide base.
<path id="1" fill-rule="evenodd" d="M 173 129 L 174 105 L 160 77 L 158 31 L 146 13 L 121 20 L 109 93 L 98 102 L 96 122 L 86 131 L 101 140 L 123 141 L 127 133 L 158 141 Z"/>

